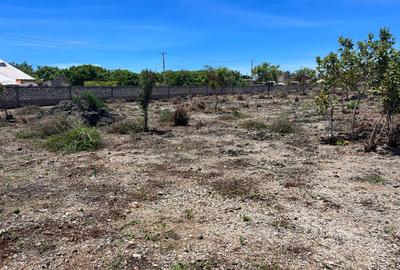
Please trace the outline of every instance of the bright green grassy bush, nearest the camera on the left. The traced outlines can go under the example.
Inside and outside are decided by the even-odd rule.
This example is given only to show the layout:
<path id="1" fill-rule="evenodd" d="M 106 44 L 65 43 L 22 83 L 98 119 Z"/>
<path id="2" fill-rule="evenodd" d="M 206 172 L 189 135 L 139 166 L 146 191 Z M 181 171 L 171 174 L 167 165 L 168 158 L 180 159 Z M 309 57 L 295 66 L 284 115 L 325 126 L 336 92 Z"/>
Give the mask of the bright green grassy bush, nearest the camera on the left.
<path id="1" fill-rule="evenodd" d="M 76 127 L 67 132 L 47 138 L 50 151 L 78 152 L 99 149 L 102 145 L 99 132 L 95 128 Z"/>

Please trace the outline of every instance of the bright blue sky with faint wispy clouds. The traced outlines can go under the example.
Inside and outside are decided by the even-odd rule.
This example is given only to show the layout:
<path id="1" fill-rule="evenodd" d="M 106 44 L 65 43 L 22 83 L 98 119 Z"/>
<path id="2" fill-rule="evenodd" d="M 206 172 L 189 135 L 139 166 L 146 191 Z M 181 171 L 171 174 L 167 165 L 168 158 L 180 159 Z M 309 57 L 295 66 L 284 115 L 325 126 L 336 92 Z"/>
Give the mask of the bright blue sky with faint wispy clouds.
<path id="1" fill-rule="evenodd" d="M 400 0 L 1 0 L 0 58 L 33 65 L 161 70 L 251 59 L 314 67 L 340 35 L 388 26 L 400 38 Z"/>

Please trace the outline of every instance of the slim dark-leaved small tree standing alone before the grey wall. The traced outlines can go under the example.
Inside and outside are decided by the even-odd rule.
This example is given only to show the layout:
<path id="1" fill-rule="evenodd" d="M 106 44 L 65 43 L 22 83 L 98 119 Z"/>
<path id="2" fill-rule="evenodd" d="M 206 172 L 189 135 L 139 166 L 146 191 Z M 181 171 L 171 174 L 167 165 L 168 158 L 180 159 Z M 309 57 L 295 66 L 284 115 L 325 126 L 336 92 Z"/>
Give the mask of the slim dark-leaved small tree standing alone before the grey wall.
<path id="1" fill-rule="evenodd" d="M 151 94 L 156 84 L 156 74 L 150 70 L 143 70 L 139 76 L 139 85 L 141 92 L 139 94 L 139 105 L 143 112 L 143 128 L 145 132 L 149 131 L 149 114 L 148 108 L 151 101 Z"/>

